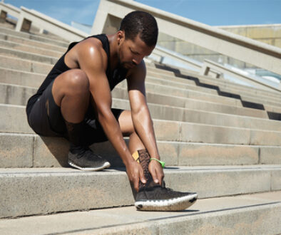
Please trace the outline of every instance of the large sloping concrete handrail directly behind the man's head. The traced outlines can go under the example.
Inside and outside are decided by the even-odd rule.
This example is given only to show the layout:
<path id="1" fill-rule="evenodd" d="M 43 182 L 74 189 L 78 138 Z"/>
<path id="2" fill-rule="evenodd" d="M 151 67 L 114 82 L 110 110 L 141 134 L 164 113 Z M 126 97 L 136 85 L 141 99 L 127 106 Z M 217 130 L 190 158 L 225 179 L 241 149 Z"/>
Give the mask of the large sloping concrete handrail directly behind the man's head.
<path id="1" fill-rule="evenodd" d="M 122 19 L 125 14 L 133 10 L 147 11 L 155 16 L 160 32 L 281 74 L 281 48 L 185 19 L 136 1 L 101 0 L 99 8 L 101 11 L 97 12 L 96 19 L 107 17 L 108 14 Z M 98 19 L 98 21 L 106 22 L 106 19 Z"/>

